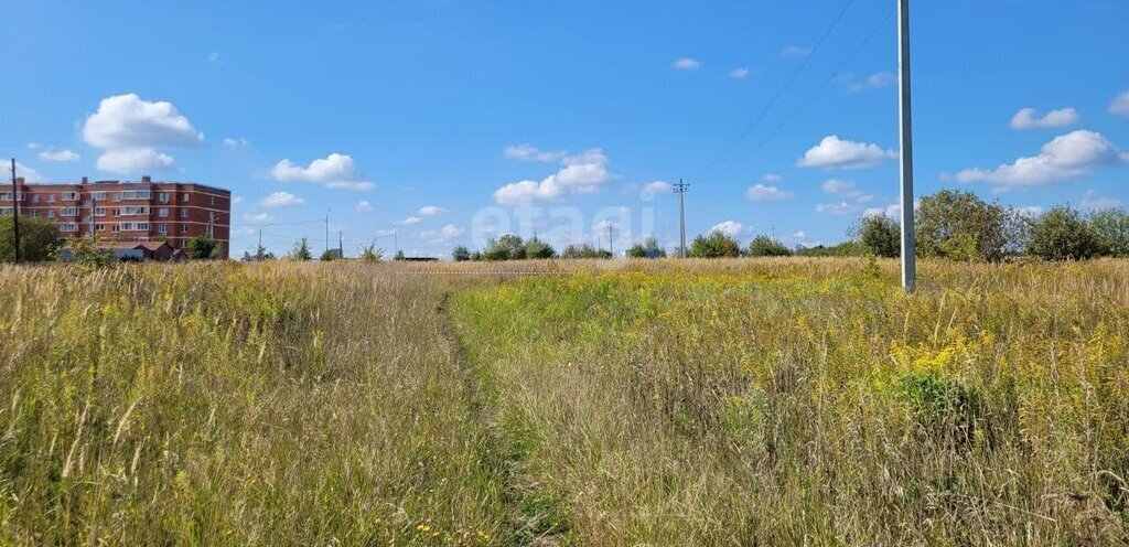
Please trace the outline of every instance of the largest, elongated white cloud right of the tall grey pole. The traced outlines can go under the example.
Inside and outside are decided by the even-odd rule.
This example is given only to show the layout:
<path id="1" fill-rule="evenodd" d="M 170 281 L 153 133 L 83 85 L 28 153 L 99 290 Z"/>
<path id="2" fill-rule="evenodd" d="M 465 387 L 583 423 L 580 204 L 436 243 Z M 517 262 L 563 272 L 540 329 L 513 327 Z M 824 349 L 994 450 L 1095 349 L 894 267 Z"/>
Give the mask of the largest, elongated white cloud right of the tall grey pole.
<path id="1" fill-rule="evenodd" d="M 997 191 L 1071 181 L 1095 168 L 1129 162 L 1101 133 L 1078 130 L 1056 137 L 1036 156 L 1021 157 L 995 170 L 971 168 L 956 174 L 957 182 L 984 182 Z"/>

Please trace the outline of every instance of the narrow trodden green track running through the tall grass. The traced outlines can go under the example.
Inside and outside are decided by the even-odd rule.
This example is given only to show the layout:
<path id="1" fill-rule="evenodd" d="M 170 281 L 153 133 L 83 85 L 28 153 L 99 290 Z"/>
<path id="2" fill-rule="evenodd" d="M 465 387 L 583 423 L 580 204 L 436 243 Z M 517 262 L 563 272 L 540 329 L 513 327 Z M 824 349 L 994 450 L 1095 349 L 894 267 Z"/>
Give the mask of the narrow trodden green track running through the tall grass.
<path id="1" fill-rule="evenodd" d="M 506 411 L 493 372 L 463 344 L 452 316 L 452 294 L 439 297 L 444 337 L 452 348 L 462 375 L 462 396 L 469 413 L 485 432 L 483 467 L 502 486 L 502 503 L 509 507 L 509 529 L 498 545 L 564 546 L 576 540 L 568 524 L 563 496 L 542 488 L 530 472 L 530 458 L 536 439 L 516 411 Z"/>

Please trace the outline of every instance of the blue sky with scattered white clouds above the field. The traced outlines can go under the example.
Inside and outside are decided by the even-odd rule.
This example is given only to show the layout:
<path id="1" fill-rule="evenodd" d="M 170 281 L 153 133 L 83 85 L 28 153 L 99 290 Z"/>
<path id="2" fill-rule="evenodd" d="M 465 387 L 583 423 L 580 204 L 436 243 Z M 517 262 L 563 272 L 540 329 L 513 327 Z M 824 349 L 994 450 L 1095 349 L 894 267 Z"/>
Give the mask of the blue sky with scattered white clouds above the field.
<path id="1" fill-rule="evenodd" d="M 45 181 L 229 188 L 235 254 L 260 229 L 320 250 L 327 210 L 347 253 L 392 229 L 413 254 L 606 248 L 609 223 L 618 249 L 671 244 L 680 177 L 690 234 L 832 243 L 898 192 L 894 1 L 855 0 L 816 49 L 847 5 L 9 0 L 0 151 Z M 1127 20 L 914 2 L 918 194 L 1129 202 Z"/>

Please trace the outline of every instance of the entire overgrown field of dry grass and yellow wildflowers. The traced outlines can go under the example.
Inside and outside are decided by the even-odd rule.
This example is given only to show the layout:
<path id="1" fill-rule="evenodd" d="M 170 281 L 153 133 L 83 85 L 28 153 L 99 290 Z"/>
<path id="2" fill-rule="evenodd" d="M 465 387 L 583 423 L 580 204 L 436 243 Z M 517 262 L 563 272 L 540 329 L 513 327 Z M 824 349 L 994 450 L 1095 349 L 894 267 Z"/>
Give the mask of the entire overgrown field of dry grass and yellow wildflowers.
<path id="1" fill-rule="evenodd" d="M 0 270 L 0 544 L 1129 541 L 1129 262 L 604 263 Z"/>

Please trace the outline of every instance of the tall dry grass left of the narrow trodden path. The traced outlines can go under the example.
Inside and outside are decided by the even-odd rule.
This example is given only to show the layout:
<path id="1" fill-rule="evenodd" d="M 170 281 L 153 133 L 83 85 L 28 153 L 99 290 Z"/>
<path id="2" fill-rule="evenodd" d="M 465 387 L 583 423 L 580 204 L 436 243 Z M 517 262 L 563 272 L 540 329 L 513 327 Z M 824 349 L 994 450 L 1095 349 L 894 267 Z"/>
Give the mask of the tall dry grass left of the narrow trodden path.
<path id="1" fill-rule="evenodd" d="M 192 264 L 0 284 L 0 544 L 505 532 L 431 280 Z"/>

